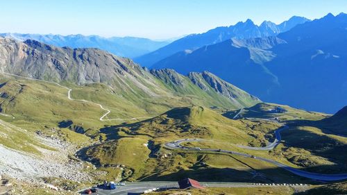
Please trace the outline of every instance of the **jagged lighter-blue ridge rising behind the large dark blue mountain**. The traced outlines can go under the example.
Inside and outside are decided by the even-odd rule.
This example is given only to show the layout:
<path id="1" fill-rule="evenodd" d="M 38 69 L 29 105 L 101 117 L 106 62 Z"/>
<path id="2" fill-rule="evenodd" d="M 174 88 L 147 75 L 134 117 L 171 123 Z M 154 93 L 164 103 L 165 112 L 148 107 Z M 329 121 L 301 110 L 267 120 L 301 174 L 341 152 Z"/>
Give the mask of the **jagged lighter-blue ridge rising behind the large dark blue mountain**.
<path id="1" fill-rule="evenodd" d="M 273 22 L 263 22 L 260 26 L 255 25 L 251 19 L 247 19 L 246 22 L 238 22 L 234 26 L 222 26 L 214 28 L 208 32 L 201 34 L 187 35 L 179 40 L 168 44 L 156 51 L 147 53 L 144 56 L 135 58 L 135 62 L 145 67 L 151 67 L 168 56 L 177 53 L 178 51 L 194 50 L 201 46 L 209 44 L 217 44 L 231 38 L 248 39 L 254 37 L 269 37 L 278 35 L 288 31 L 297 24 L 303 24 L 309 21 L 305 17 L 291 17 L 288 21 L 281 24 L 274 24 Z"/>

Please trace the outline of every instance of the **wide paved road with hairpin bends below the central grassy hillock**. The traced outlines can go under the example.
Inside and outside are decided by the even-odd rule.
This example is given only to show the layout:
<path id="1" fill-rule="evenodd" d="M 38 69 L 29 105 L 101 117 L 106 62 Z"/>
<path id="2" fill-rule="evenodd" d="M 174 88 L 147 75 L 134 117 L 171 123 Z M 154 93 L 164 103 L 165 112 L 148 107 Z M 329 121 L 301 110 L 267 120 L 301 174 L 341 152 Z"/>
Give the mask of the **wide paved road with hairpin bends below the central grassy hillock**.
<path id="1" fill-rule="evenodd" d="M 269 144 L 268 146 L 265 147 L 251 147 L 251 146 L 238 146 L 240 148 L 244 149 L 251 149 L 251 150 L 266 150 L 269 151 L 271 149 L 276 148 L 278 144 L 280 144 L 281 141 L 281 136 L 280 132 L 282 130 L 288 129 L 288 126 L 282 126 L 282 128 L 279 128 L 278 130 L 275 131 L 275 136 L 276 139 L 274 142 Z M 287 164 L 283 164 L 281 162 L 277 162 L 276 160 L 271 160 L 269 158 L 262 158 L 262 157 L 257 157 L 254 155 L 249 155 L 246 153 L 239 153 L 236 151 L 226 151 L 222 149 L 201 149 L 201 148 L 192 148 L 192 147 L 187 147 L 187 146 L 181 146 L 183 142 L 214 142 L 212 140 L 204 140 L 204 139 L 179 139 L 174 142 L 169 142 L 164 144 L 164 146 L 167 149 L 183 149 L 183 150 L 189 150 L 189 151 L 210 151 L 210 152 L 218 152 L 218 153 L 228 153 L 228 154 L 234 154 L 234 155 L 241 155 L 246 158 L 254 158 L 255 160 L 262 160 L 264 162 L 269 162 L 271 164 L 275 164 L 277 167 L 281 167 L 283 169 L 286 169 L 287 171 L 290 171 L 291 173 L 296 174 L 297 176 L 302 176 L 304 178 L 310 178 L 314 180 L 323 180 L 323 181 L 335 181 L 335 180 L 346 180 L 347 179 L 347 173 L 341 173 L 341 174 L 322 174 L 322 173 L 311 173 L 308 171 L 302 171 L 300 169 L 296 169 L 293 167 L 289 167 Z"/>

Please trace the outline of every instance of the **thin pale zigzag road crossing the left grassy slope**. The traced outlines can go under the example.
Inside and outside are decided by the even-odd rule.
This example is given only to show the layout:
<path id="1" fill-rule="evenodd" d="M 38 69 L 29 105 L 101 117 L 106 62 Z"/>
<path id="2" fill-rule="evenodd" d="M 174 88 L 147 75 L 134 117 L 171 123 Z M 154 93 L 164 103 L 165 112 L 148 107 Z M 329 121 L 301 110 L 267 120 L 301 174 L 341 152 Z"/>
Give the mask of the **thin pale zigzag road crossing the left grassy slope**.
<path id="1" fill-rule="evenodd" d="M 115 118 L 115 119 L 104 119 L 108 114 L 110 114 L 111 110 L 108 110 L 106 108 L 103 108 L 103 105 L 101 105 L 100 103 L 96 103 L 94 101 L 87 101 L 85 99 L 72 99 L 71 98 L 71 91 L 72 89 L 70 89 L 69 87 L 65 87 L 64 85 L 60 85 L 59 83 L 53 82 L 53 81 L 47 81 L 47 80 L 40 80 L 37 78 L 30 78 L 30 77 L 25 77 L 25 76 L 19 76 L 17 74 L 10 74 L 10 73 L 5 73 L 5 72 L 0 72 L 0 74 L 5 74 L 5 75 L 9 75 L 9 76 L 15 76 L 18 78 L 25 78 L 28 80 L 36 80 L 36 81 L 40 81 L 40 82 L 44 82 L 44 83 L 51 83 L 54 85 L 58 85 L 59 87 L 65 88 L 67 90 L 67 98 L 71 101 L 82 101 L 82 102 L 86 102 L 86 103 L 94 103 L 96 105 L 99 105 L 99 107 L 101 108 L 101 110 L 105 110 L 105 114 L 102 115 L 100 117 L 100 121 L 127 121 L 127 120 L 136 120 L 136 119 L 149 119 L 150 117 L 135 117 L 135 118 L 130 118 L 130 119 L 122 119 L 122 118 Z"/>

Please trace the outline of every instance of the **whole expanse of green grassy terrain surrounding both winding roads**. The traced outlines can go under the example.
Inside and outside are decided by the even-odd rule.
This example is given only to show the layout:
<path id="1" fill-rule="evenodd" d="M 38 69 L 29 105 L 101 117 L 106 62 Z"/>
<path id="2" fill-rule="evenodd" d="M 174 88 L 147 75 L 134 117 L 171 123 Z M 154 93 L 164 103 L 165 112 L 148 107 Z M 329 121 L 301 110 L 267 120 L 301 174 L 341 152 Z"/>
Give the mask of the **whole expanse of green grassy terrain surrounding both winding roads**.
<path id="1" fill-rule="evenodd" d="M 104 166 L 99 167 L 98 170 L 106 170 L 112 174 L 112 178 L 118 178 L 120 174 L 127 180 L 154 180 L 155 178 L 176 180 L 185 176 L 217 180 L 227 172 L 230 174 L 226 181 L 295 180 L 303 182 L 302 178 L 292 176 L 287 171 L 265 162 L 216 153 L 169 151 L 163 147 L 166 142 L 185 138 L 214 140 L 215 142 L 198 144 L 201 144 L 201 147 L 230 149 L 269 157 L 309 171 L 321 173 L 346 171 L 346 167 L 341 166 L 343 162 L 346 162 L 346 155 L 341 155 L 346 149 L 346 138 L 327 134 L 326 130 L 319 126 L 308 125 L 309 122 L 325 121 L 328 116 L 324 114 L 264 103 L 253 106 L 251 110 L 244 108 L 245 115 L 250 114 L 250 117 L 279 117 L 290 126 L 289 130 L 282 133 L 283 141 L 276 150 L 246 151 L 246 149 L 237 148 L 235 144 L 264 146 L 267 140 L 273 138 L 273 130 L 279 128 L 281 124 L 261 119 L 232 120 L 228 119 L 231 115 L 223 117 L 219 112 L 203 106 L 181 107 L 192 104 L 211 105 L 212 101 L 207 101 L 204 96 L 187 95 L 194 94 L 196 85 L 192 87 L 185 85 L 186 91 L 178 87 L 177 92 L 173 93 L 169 93 L 171 90 L 162 90 L 160 96 L 146 99 L 128 94 L 122 96 L 117 89 L 105 84 L 76 86 L 67 83 L 73 89 L 71 96 L 74 99 L 102 103 L 105 108 L 111 110 L 112 114 L 108 116 L 110 119 L 126 118 L 119 121 L 99 121 L 99 117 L 105 113 L 99 105 L 71 101 L 67 99 L 67 90 L 57 85 L 7 76 L 1 77 L 1 83 L 0 108 L 3 115 L 0 115 L 0 119 L 3 123 L 28 129 L 26 136 L 21 135 L 17 130 L 19 134 L 13 134 L 14 137 L 11 139 L 21 137 L 18 139 L 20 142 L 28 142 L 30 144 L 27 145 L 33 148 L 21 148 L 19 143 L 14 144 L 16 142 L 8 142 L 6 146 L 35 153 L 35 145 L 40 146 L 40 142 L 32 139 L 31 133 L 35 130 L 50 133 L 51 128 L 58 129 L 60 136 L 69 142 L 86 146 L 90 139 L 85 135 L 74 133 L 67 128 L 57 128 L 60 121 L 71 120 L 74 125 L 82 126 L 86 135 L 101 141 L 100 144 L 88 146 L 83 155 L 96 164 L 103 164 Z M 162 85 L 167 86 L 164 83 Z M 223 96 L 220 98 L 224 99 Z M 216 99 L 215 103 L 218 101 Z M 287 112 L 275 114 L 267 112 L 278 106 L 285 108 Z M 178 108 L 165 112 L 173 107 Z M 158 115 L 160 112 L 164 114 Z M 153 115 L 158 117 L 137 119 L 143 121 L 121 124 L 124 121 L 128 123 L 134 121 L 130 119 L 132 117 Z M 343 121 L 343 117 L 339 119 Z M 6 133 L 6 128 L 1 130 Z M 6 141 L 8 140 L 10 139 Z M 115 164 L 124 164 L 125 167 L 120 170 L 112 167 Z M 265 176 L 254 179 L 254 171 Z"/>

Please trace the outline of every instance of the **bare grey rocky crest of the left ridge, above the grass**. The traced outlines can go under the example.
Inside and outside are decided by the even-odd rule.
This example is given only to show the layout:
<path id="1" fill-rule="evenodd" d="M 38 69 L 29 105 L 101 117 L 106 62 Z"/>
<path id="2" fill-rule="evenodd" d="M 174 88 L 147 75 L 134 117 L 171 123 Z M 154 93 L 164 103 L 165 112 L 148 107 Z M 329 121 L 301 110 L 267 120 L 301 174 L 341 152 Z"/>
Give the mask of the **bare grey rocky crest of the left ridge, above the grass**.
<path id="1" fill-rule="evenodd" d="M 1 69 L 12 74 L 49 78 L 52 81 L 108 83 L 146 74 L 139 65 L 100 49 L 70 49 L 51 46 L 36 40 L 19 42 L 10 38 L 0 40 L 3 52 Z M 15 61 L 11 59 L 17 59 Z"/>

